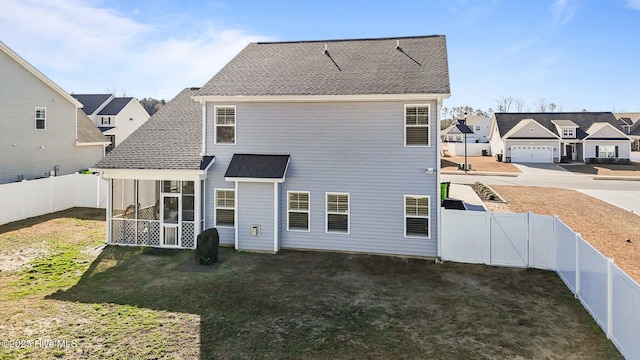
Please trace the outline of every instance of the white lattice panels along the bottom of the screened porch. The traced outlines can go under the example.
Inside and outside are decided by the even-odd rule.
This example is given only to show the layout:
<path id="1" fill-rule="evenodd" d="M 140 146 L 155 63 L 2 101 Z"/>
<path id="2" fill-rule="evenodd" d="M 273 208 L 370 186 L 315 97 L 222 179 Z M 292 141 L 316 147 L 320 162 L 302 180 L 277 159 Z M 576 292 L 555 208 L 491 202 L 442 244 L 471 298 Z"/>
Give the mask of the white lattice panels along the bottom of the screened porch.
<path id="1" fill-rule="evenodd" d="M 114 245 L 156 246 L 162 247 L 160 242 L 159 220 L 111 219 L 111 240 Z M 195 248 L 195 223 L 181 222 L 182 248 Z"/>

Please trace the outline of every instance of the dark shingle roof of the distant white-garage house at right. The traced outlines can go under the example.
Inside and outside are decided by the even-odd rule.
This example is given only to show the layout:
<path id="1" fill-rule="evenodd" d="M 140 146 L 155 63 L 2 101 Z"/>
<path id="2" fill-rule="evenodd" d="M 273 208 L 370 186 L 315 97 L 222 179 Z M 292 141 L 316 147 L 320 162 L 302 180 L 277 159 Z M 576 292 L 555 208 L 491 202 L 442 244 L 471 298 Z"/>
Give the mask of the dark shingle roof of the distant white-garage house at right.
<path id="1" fill-rule="evenodd" d="M 605 122 L 611 124 L 616 129 L 622 131 L 618 119 L 610 112 L 573 112 L 573 113 L 495 113 L 496 123 L 500 136 L 504 136 L 514 126 L 516 126 L 521 120 L 534 119 L 540 125 L 547 128 L 552 133 L 558 134 L 556 126 L 552 121 L 558 120 L 570 120 L 579 128 L 576 130 L 576 137 L 578 139 L 584 139 L 587 136 L 587 129 L 594 123 Z"/>

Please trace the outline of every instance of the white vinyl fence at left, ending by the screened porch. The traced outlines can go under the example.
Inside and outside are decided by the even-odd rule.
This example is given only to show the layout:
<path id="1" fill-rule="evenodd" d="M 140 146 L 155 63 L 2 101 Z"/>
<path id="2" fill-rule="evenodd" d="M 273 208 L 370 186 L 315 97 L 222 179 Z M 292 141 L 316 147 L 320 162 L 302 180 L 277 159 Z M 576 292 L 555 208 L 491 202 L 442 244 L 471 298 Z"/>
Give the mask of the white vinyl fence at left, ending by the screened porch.
<path id="1" fill-rule="evenodd" d="M 0 185 L 0 224 L 72 207 L 105 208 L 106 180 L 71 174 Z"/>

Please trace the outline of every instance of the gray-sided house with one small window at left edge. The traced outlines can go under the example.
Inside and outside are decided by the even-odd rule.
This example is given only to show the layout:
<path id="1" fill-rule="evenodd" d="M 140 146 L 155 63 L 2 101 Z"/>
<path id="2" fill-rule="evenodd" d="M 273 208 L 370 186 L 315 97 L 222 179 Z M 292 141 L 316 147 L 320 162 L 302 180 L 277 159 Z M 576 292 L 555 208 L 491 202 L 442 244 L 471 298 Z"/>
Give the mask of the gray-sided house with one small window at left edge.
<path id="1" fill-rule="evenodd" d="M 0 184 L 85 170 L 108 141 L 82 104 L 0 42 Z"/>

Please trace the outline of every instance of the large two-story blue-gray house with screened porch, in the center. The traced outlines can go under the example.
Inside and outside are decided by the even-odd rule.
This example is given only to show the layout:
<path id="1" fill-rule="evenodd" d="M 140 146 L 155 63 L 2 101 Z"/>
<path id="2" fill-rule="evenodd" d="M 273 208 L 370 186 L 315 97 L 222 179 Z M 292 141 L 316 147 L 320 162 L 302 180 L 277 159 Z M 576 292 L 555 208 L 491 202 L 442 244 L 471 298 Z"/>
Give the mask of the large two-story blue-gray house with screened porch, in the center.
<path id="1" fill-rule="evenodd" d="M 444 36 L 252 43 L 95 167 L 108 242 L 438 255 Z"/>

